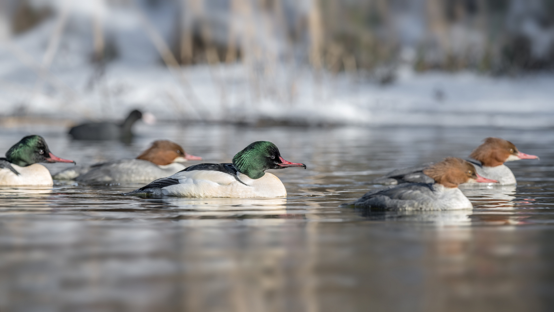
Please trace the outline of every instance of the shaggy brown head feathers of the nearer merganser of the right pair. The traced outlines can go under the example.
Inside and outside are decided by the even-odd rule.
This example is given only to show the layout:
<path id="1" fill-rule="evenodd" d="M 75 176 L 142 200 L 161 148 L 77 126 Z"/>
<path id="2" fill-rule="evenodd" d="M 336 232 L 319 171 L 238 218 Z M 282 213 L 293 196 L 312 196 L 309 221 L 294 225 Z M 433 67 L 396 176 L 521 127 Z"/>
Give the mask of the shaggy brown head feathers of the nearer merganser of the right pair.
<path id="1" fill-rule="evenodd" d="M 473 164 L 456 157 L 447 157 L 442 162 L 434 163 L 423 170 L 423 173 L 447 188 L 455 188 L 469 179 L 477 179 Z"/>

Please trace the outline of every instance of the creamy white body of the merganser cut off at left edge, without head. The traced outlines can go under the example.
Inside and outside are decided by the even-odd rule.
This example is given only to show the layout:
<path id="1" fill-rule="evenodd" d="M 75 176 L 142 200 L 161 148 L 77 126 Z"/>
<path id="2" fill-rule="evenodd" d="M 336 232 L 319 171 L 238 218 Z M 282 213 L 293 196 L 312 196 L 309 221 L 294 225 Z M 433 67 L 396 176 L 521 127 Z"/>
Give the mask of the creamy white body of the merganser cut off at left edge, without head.
<path id="1" fill-rule="evenodd" d="M 32 164 L 27 167 L 19 167 L 12 164 L 19 174 L 15 174 L 7 168 L 0 169 L 0 185 L 53 185 L 52 176 L 46 167 L 41 164 Z"/>

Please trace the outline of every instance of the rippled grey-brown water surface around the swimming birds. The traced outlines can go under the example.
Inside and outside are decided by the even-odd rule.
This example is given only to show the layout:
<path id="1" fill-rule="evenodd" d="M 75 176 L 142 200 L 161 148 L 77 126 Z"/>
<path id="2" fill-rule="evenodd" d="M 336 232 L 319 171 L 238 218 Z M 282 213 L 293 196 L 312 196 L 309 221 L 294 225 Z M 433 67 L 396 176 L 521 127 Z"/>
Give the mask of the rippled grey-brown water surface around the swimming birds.
<path id="1" fill-rule="evenodd" d="M 286 199 L 126 197 L 140 185 L 0 189 L 0 311 L 547 311 L 554 309 L 554 129 L 141 125 L 119 142 L 0 128 L 0 154 L 41 134 L 80 164 L 171 139 L 204 162 L 270 140 L 307 169 Z M 398 167 L 465 157 L 489 136 L 540 160 L 517 187 L 465 189 L 474 209 L 338 207 Z M 190 162 L 196 164 L 199 162 Z M 48 164 L 51 172 L 68 164 Z"/>

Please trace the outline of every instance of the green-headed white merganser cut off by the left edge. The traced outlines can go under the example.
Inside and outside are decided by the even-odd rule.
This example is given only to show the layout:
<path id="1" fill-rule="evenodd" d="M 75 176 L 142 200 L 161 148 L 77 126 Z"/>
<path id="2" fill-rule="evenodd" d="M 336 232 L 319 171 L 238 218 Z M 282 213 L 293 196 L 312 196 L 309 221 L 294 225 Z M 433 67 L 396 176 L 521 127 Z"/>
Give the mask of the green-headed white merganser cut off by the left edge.
<path id="1" fill-rule="evenodd" d="M 52 154 L 43 137 L 28 135 L 8 149 L 6 158 L 0 158 L 0 185 L 53 185 L 48 169 L 37 163 L 75 162 Z"/>

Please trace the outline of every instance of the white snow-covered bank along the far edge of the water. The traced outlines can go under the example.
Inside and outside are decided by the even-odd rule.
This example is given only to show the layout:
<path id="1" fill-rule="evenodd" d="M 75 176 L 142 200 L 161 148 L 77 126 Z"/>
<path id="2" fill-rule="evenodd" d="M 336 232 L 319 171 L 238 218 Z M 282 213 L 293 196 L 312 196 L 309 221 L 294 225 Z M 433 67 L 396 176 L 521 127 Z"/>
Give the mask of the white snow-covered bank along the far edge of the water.
<path id="1" fill-rule="evenodd" d="M 38 79 L 54 26 L 45 22 L 0 47 L 0 114 L 117 119 L 141 108 L 158 119 L 252 124 L 554 125 L 554 75 L 416 74 L 405 67 L 380 85 L 280 61 L 170 71 L 155 55 L 125 57 L 134 55 L 129 51 L 100 69 L 78 27 L 64 34 Z M 142 54 L 157 53 L 139 33 L 129 36 Z"/>

